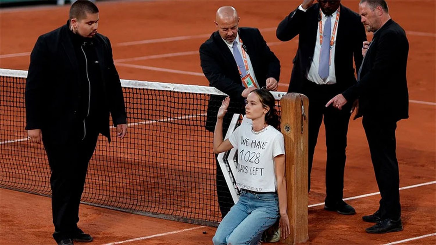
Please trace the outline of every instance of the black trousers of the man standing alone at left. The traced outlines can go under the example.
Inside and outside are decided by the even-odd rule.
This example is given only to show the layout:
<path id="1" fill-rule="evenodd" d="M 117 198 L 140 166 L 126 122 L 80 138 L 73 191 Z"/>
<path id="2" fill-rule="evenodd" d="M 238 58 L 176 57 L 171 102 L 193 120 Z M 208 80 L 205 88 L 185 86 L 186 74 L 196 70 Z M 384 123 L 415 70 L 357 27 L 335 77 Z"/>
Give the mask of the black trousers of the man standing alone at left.
<path id="1" fill-rule="evenodd" d="M 82 133 L 78 133 L 79 128 Z M 89 127 L 82 140 L 83 122 L 82 125 L 76 125 L 72 132 L 66 140 L 59 140 L 58 135 L 50 131 L 43 131 L 42 134 L 51 168 L 51 208 L 55 231 L 53 238 L 56 242 L 72 238 L 72 234 L 78 230 L 80 198 L 88 163 L 98 138 L 98 131 Z"/>

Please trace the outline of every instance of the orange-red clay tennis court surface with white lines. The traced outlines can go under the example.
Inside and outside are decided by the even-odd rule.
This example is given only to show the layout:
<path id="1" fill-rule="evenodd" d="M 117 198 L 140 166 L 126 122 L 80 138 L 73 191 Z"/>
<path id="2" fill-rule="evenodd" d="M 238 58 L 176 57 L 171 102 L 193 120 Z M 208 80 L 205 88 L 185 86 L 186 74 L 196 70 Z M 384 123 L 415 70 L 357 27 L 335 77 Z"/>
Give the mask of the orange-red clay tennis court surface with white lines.
<path id="1" fill-rule="evenodd" d="M 97 2 L 99 32 L 111 40 L 121 78 L 208 85 L 201 72 L 198 48 L 215 31 L 217 8 L 233 5 L 241 17 L 240 26 L 258 27 L 279 58 L 282 66 L 279 91 L 287 91 L 298 41 L 280 42 L 275 30 L 300 2 L 103 1 Z M 343 4 L 354 11 L 358 9 L 357 0 L 344 0 Z M 326 148 L 321 128 L 309 194 L 310 244 L 436 243 L 436 2 L 388 0 L 388 4 L 393 20 L 406 30 L 410 45 L 407 70 L 410 118 L 400 121 L 396 131 L 404 231 L 386 235 L 364 232 L 371 224 L 362 222 L 361 216 L 378 208 L 380 196 L 368 143 L 358 119 L 349 126 L 344 183 L 344 198 L 350 198 L 347 202 L 357 214 L 344 216 L 323 209 Z M 37 37 L 65 24 L 67 19 L 68 6 L 1 9 L 0 67 L 27 70 Z M 368 39 L 371 37 L 368 34 Z M 8 119 L 0 112 L 0 121 Z M 54 243 L 50 198 L 0 189 L 0 208 L 0 244 Z M 79 226 L 93 235 L 93 244 L 200 245 L 211 244 L 215 233 L 211 227 L 89 205 L 81 205 L 80 211 Z"/>

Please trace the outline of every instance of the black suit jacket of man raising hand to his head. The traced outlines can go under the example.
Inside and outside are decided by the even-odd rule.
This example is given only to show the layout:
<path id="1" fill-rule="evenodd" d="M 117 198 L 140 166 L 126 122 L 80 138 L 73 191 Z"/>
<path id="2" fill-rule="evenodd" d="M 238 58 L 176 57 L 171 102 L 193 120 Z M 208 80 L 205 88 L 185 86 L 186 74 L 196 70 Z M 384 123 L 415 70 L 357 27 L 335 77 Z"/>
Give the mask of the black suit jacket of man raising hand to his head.
<path id="1" fill-rule="evenodd" d="M 353 55 L 356 67 L 362 62 L 362 44 L 366 40 L 361 18 L 352 10 L 340 6 L 341 13 L 337 26 L 334 65 L 336 82 L 343 90 L 356 83 L 353 68 Z M 293 69 L 288 92 L 301 93 L 303 81 L 309 72 L 313 60 L 313 51 L 317 41 L 318 22 L 320 20 L 319 3 L 310 6 L 306 12 L 298 8 L 292 11 L 277 27 L 279 40 L 289 41 L 298 37 L 298 50 L 293 59 Z M 334 21 L 334 20 L 332 20 Z"/>

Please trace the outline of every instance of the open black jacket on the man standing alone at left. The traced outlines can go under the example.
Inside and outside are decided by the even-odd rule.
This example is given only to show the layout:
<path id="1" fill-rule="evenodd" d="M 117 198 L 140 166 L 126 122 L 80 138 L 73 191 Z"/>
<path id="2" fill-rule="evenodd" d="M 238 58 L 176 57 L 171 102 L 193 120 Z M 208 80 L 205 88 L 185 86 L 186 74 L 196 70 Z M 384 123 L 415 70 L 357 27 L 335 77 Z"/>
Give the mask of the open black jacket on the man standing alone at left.
<path id="1" fill-rule="evenodd" d="M 73 132 L 78 118 L 80 77 L 78 60 L 69 34 L 68 23 L 41 35 L 31 53 L 26 82 L 26 129 L 41 129 L 59 140 Z M 112 59 L 109 39 L 93 38 L 99 60 L 104 94 L 103 115 L 97 122 L 100 133 L 110 141 L 109 112 L 114 125 L 126 124 L 123 91 Z"/>

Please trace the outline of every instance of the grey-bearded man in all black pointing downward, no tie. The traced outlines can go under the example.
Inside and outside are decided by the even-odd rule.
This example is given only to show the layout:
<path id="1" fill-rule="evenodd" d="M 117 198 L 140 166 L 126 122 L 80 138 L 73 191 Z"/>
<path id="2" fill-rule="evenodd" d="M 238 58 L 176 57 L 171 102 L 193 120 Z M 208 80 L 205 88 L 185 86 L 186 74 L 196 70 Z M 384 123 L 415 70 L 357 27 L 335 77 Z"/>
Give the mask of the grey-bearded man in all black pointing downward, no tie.
<path id="1" fill-rule="evenodd" d="M 399 170 L 395 153 L 397 121 L 409 117 L 409 93 L 406 80 L 409 42 L 405 31 L 389 16 L 385 0 L 361 0 L 359 12 L 368 31 L 374 32 L 371 44 L 362 48 L 364 61 L 358 82 L 331 99 L 342 109 L 348 101 L 359 99 L 356 113 L 363 115 L 362 124 L 368 139 L 375 178 L 381 200 L 365 222 L 377 222 L 366 229 L 369 233 L 402 230 L 399 193 Z"/>

